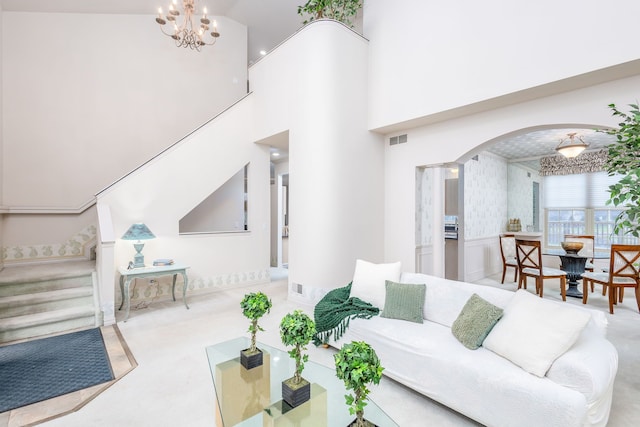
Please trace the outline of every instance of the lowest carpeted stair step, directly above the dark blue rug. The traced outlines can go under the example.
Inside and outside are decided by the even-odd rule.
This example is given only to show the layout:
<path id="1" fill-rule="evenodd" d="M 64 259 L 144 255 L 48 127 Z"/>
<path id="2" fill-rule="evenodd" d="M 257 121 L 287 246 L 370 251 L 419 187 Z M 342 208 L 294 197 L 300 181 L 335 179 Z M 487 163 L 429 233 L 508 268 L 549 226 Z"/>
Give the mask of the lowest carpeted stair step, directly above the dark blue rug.
<path id="1" fill-rule="evenodd" d="M 95 326 L 93 305 L 0 319 L 0 342 L 7 343 L 75 328 Z"/>

